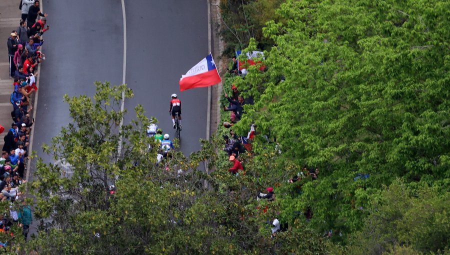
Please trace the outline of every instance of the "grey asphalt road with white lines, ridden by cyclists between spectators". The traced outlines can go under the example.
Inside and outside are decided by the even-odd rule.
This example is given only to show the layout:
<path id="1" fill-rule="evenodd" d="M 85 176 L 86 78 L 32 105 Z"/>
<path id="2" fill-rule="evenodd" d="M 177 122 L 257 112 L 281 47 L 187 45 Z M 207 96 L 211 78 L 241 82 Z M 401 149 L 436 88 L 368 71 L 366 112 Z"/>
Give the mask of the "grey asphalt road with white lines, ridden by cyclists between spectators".
<path id="1" fill-rule="evenodd" d="M 206 0 L 129 0 L 126 10 L 126 79 L 134 98 L 125 101 L 133 116 L 137 103 L 147 116 L 159 119 L 174 136 L 168 114 L 171 93 L 182 102 L 181 150 L 188 155 L 206 136 L 207 88 L 179 92 L 178 80 L 206 56 Z M 122 82 L 123 25 L 120 0 L 44 1 L 50 30 L 44 34 L 33 150 L 44 161 L 42 143 L 49 144 L 70 118 L 63 94 L 95 92 L 95 80 Z"/>

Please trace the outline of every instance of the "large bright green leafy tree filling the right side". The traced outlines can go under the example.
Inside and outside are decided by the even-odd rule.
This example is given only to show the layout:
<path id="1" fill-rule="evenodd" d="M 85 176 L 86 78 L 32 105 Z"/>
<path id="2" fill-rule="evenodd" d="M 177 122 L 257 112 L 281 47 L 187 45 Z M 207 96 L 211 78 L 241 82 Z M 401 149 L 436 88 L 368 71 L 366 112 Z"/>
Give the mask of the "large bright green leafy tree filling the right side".
<path id="1" fill-rule="evenodd" d="M 286 218 L 310 208 L 311 227 L 344 241 L 399 176 L 448 192 L 449 8 L 439 0 L 287 0 L 282 21 L 267 22 L 263 34 L 275 46 L 232 80 L 255 101 L 233 128 L 255 123 L 263 134 L 248 168 L 281 180 Z M 250 39 L 246 50 L 256 48 Z M 285 181 L 303 166 L 318 167 L 319 177 L 304 177 L 295 194 Z M 354 180 L 358 173 L 370 177 Z"/>

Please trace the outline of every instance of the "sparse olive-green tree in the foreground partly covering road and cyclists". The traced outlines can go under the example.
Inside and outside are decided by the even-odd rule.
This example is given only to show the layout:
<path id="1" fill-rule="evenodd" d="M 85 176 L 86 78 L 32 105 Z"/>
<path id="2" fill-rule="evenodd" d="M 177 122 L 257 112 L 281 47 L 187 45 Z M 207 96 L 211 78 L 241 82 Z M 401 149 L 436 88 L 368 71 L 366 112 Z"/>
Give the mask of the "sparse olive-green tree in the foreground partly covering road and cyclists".
<path id="1" fill-rule="evenodd" d="M 93 99 L 64 97 L 73 121 L 44 146 L 55 162 L 36 163 L 31 187 L 42 223 L 22 250 L 258 254 L 295 249 L 292 236 L 301 231 L 281 244 L 270 238 L 264 222 L 276 217 L 278 204 L 256 201 L 254 176 L 228 173 L 224 152 L 216 153 L 218 136 L 201 140 L 202 149 L 189 159 L 175 151 L 156 164 L 157 144 L 145 135 L 149 122 L 141 106 L 135 108 L 136 119 L 118 126 L 126 112 L 118 110 L 121 94 L 128 98 L 132 91 L 126 85 L 95 86 Z M 205 164 L 220 167 L 207 174 L 198 170 Z M 115 194 L 107 192 L 110 184 Z M 316 247 L 323 240 L 311 233 L 303 246 L 326 253 L 328 246 Z"/>

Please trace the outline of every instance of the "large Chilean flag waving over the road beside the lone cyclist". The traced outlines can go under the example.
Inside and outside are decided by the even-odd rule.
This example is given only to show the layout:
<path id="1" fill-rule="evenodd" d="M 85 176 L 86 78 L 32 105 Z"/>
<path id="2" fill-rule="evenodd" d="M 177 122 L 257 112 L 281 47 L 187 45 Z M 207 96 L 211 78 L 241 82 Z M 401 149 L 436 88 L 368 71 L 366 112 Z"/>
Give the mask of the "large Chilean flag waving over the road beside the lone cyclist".
<path id="1" fill-rule="evenodd" d="M 190 68 L 186 74 L 181 75 L 179 80 L 179 90 L 183 91 L 194 87 L 207 87 L 221 81 L 214 59 L 211 53 L 201 59 L 196 65 Z"/>

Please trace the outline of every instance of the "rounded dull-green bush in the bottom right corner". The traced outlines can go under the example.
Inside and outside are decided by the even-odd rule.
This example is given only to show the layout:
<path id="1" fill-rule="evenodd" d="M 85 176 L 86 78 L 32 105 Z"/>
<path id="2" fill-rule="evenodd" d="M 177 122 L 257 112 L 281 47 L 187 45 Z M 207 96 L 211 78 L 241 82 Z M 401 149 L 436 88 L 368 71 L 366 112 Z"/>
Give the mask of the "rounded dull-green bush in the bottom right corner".
<path id="1" fill-rule="evenodd" d="M 436 188 L 414 190 L 395 181 L 376 198 L 349 250 L 354 254 L 381 254 L 390 249 L 390 253 L 401 254 L 395 247 L 401 245 L 414 253 L 450 251 L 446 230 L 450 226 L 449 198 L 448 193 L 439 195 Z"/>

